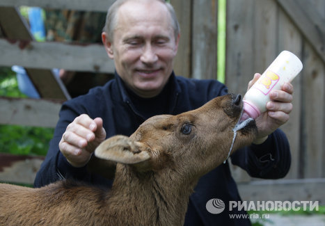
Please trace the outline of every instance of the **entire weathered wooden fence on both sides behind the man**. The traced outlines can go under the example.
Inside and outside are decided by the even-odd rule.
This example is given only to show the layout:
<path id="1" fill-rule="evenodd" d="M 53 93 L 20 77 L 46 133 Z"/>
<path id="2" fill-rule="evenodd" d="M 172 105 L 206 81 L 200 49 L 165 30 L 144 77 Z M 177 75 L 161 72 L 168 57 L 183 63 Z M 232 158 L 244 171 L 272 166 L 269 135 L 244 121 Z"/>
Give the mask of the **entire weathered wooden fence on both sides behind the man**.
<path id="1" fill-rule="evenodd" d="M 0 6 L 2 10 L 24 5 L 102 12 L 112 2 L 1 0 Z M 216 79 L 218 1 L 175 0 L 171 3 L 181 26 L 180 47 L 175 60 L 176 74 Z M 325 1 L 228 0 L 226 13 L 225 82 L 230 92 L 244 94 L 253 74 L 262 73 L 284 49 L 301 58 L 303 71 L 293 81 L 294 109 L 290 121 L 282 127 L 292 148 L 292 167 L 285 179 L 318 178 L 317 184 L 324 189 Z M 0 65 L 4 66 L 17 64 L 44 70 L 58 67 L 97 72 L 114 70 L 113 62 L 106 56 L 104 48 L 94 44 L 76 46 L 59 42 L 31 42 L 29 48 L 22 50 L 17 44 L 9 44 L 1 38 L 0 49 Z M 45 102 L 53 107 L 53 112 L 42 107 Z M 53 127 L 59 106 L 45 99 L 1 98 L 0 123 Z M 44 120 L 33 118 L 35 113 L 44 115 Z M 24 120 L 25 117 L 30 118 Z M 48 118 L 52 118 L 50 124 L 44 124 Z M 254 180 L 239 168 L 233 167 L 232 171 L 235 179 L 242 183 L 243 191 L 247 186 L 245 183 Z M 269 189 L 274 186 L 269 186 Z M 288 189 L 289 193 L 295 186 Z"/>

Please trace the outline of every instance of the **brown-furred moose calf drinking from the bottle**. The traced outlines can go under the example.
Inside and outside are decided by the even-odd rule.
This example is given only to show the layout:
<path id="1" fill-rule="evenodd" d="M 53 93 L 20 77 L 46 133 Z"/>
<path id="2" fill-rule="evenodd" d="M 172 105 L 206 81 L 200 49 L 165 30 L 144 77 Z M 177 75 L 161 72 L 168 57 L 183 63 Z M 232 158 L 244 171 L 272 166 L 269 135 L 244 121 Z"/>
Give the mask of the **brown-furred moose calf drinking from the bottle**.
<path id="1" fill-rule="evenodd" d="M 234 95 L 216 97 L 194 111 L 150 118 L 130 138 L 104 141 L 95 155 L 118 162 L 111 191 L 74 181 L 0 184 L 0 225 L 183 225 L 198 179 L 228 155 L 241 108 Z M 254 122 L 241 129 L 234 150 L 255 134 Z"/>

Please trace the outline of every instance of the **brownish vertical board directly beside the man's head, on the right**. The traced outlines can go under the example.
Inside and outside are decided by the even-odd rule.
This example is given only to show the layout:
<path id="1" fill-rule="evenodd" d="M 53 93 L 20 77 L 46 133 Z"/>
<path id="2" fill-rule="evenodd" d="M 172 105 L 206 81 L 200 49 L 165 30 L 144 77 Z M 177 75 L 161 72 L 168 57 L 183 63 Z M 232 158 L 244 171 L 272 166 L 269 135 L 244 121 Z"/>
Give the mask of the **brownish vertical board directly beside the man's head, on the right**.
<path id="1" fill-rule="evenodd" d="M 191 1 L 171 1 L 180 23 L 180 42 L 175 57 L 177 75 L 191 76 Z"/>

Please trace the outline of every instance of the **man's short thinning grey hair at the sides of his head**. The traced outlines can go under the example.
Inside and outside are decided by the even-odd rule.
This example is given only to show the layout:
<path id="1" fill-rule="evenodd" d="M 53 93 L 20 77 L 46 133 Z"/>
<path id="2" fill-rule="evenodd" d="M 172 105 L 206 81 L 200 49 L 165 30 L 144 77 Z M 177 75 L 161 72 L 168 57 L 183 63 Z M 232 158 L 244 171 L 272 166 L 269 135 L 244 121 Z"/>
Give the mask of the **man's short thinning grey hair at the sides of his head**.
<path id="1" fill-rule="evenodd" d="M 113 42 L 113 33 L 114 33 L 114 29 L 116 28 L 116 22 L 117 22 L 116 14 L 118 12 L 118 9 L 120 8 L 120 6 L 122 6 L 122 4 L 124 4 L 127 1 L 132 1 L 132 0 L 116 0 L 107 11 L 106 23 L 103 31 L 107 33 L 110 42 Z M 155 1 L 160 1 L 161 3 L 164 3 L 164 5 L 168 9 L 168 12 L 171 14 L 173 30 L 176 39 L 178 34 L 180 33 L 180 24 L 178 23 L 173 6 L 171 5 L 171 3 L 168 3 L 165 0 L 155 0 Z"/>

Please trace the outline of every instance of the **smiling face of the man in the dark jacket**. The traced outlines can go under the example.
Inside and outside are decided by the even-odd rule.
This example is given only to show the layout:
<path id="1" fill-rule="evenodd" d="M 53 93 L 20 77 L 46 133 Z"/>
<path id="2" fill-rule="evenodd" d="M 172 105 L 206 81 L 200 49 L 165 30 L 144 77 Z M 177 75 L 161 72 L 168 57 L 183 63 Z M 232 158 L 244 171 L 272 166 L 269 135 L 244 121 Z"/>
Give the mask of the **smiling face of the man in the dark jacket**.
<path id="1" fill-rule="evenodd" d="M 127 1 L 117 13 L 113 43 L 106 33 L 102 38 L 129 88 L 141 97 L 161 92 L 173 71 L 179 40 L 166 6 L 158 1 Z"/>

